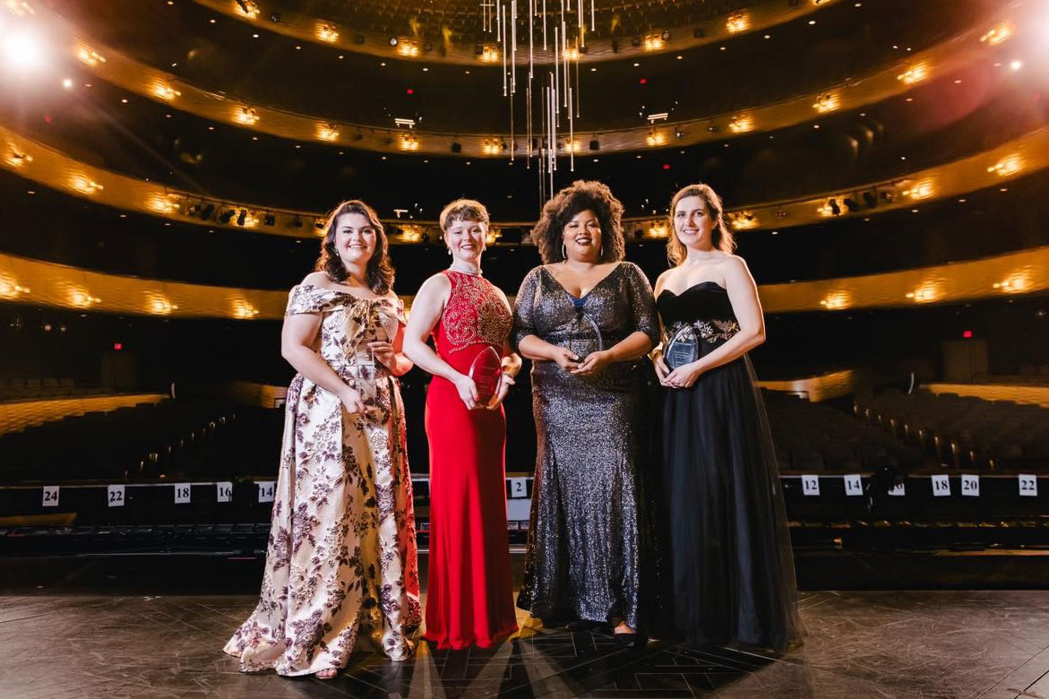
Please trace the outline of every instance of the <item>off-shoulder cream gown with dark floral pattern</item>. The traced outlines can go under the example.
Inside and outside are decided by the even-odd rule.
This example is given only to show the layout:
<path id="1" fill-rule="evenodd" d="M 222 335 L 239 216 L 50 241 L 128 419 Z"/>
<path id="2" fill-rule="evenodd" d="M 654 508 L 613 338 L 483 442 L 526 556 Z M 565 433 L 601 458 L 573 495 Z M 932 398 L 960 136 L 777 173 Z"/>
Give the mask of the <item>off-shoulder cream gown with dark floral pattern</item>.
<path id="1" fill-rule="evenodd" d="M 343 668 L 364 633 L 392 660 L 411 655 L 419 564 L 398 381 L 367 342 L 389 340 L 404 305 L 299 284 L 286 314 L 321 315 L 315 348 L 368 409 L 296 375 L 259 603 L 226 644 L 242 672 Z"/>

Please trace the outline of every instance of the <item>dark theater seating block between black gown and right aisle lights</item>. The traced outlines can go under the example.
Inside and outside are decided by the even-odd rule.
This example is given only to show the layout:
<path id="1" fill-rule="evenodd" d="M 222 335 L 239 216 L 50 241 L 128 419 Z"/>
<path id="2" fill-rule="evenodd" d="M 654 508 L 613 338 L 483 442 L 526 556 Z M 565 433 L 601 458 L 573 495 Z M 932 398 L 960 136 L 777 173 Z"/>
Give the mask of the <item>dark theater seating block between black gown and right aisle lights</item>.
<path id="1" fill-rule="evenodd" d="M 911 470 L 930 461 L 833 404 L 774 391 L 764 395 L 780 473 Z"/>

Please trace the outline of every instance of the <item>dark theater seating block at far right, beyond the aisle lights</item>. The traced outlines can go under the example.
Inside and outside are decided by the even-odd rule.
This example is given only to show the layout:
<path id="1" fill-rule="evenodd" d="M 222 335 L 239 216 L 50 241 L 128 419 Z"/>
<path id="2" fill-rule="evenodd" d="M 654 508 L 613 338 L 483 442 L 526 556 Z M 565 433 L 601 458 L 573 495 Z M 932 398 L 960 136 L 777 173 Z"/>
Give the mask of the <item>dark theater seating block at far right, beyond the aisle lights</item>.
<path id="1" fill-rule="evenodd" d="M 1049 472 L 1049 408 L 957 394 L 897 389 L 858 396 L 854 411 L 937 464 L 959 469 Z"/>

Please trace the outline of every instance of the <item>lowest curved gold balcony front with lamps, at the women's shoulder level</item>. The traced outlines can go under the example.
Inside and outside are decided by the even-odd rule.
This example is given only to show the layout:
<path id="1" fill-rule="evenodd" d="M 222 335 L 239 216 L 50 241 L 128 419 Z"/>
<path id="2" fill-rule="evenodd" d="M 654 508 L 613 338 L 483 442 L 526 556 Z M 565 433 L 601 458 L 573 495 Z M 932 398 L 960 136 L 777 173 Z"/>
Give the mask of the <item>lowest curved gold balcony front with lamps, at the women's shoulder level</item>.
<path id="1" fill-rule="evenodd" d="M 759 287 L 766 313 L 957 303 L 1049 291 L 1049 247 L 840 279 Z M 402 297 L 410 306 L 410 297 Z M 171 318 L 278 320 L 287 293 L 102 274 L 0 254 L 0 301 Z"/>

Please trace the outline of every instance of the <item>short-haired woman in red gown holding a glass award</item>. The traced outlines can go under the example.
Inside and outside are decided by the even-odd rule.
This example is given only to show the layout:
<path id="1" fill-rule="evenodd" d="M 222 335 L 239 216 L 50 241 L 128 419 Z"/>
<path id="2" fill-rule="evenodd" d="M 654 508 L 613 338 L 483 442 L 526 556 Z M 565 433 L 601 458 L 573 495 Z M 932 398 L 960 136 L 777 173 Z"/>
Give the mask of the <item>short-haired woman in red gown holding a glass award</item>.
<path id="1" fill-rule="evenodd" d="M 404 352 L 433 375 L 426 397 L 430 441 L 430 570 L 424 637 L 442 649 L 487 648 L 517 631 L 507 536 L 502 398 L 520 358 L 509 354 L 506 295 L 480 276 L 488 211 L 458 199 L 441 213 L 448 270 L 415 295 Z M 426 344 L 433 336 L 436 352 Z M 489 347 L 504 381 L 488 403 L 470 378 Z"/>

